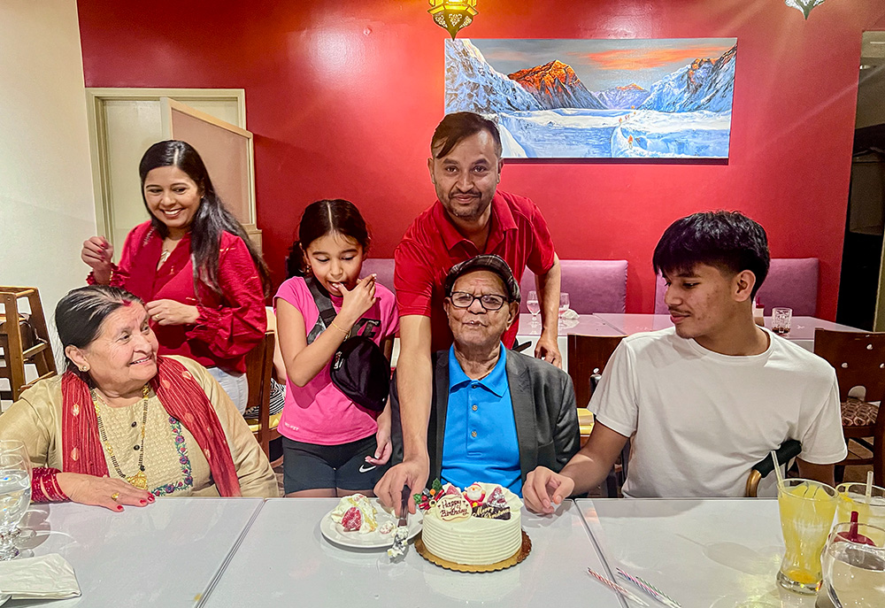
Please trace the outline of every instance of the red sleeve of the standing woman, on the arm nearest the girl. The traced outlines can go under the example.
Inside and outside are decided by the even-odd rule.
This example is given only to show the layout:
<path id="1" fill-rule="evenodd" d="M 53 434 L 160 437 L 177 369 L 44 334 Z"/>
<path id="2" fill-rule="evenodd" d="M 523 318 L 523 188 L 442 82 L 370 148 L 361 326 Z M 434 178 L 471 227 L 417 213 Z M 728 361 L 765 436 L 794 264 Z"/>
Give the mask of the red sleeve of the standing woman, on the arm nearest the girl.
<path id="1" fill-rule="evenodd" d="M 200 316 L 187 335 L 205 342 L 219 358 L 241 357 L 264 337 L 267 313 L 249 248 L 239 236 L 227 232 L 221 235 L 219 287 L 221 304 L 217 308 L 197 304 Z"/>

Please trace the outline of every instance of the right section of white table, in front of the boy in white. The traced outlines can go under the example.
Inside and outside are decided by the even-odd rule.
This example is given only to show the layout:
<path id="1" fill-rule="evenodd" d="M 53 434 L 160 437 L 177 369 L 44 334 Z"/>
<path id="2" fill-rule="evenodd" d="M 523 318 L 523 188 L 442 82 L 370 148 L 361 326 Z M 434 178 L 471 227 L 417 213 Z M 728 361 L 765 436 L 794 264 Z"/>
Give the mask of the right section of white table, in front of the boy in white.
<path id="1" fill-rule="evenodd" d="M 685 608 L 815 605 L 815 596 L 776 582 L 784 554 L 776 498 L 592 498 L 575 504 L 612 571 L 650 582 Z"/>

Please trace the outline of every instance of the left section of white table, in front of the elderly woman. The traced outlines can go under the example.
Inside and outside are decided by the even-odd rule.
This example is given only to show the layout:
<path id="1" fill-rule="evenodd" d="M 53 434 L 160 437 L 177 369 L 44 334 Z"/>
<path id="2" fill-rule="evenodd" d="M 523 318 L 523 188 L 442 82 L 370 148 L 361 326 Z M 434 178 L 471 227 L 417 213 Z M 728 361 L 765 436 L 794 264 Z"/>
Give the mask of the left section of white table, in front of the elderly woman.
<path id="1" fill-rule="evenodd" d="M 263 498 L 159 498 L 123 512 L 77 503 L 32 504 L 24 556 L 58 553 L 81 596 L 10 600 L 4 608 L 194 606 L 220 575 Z M 258 604 L 243 604 L 258 605 Z"/>

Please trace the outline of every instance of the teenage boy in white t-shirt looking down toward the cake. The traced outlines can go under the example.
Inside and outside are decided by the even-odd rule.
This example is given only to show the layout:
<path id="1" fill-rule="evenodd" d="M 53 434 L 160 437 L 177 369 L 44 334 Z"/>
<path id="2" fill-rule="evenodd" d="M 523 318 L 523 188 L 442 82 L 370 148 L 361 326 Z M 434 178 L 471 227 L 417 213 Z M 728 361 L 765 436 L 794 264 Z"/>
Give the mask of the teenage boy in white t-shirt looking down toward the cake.
<path id="1" fill-rule="evenodd" d="M 753 321 L 766 232 L 737 212 L 678 219 L 655 248 L 674 327 L 625 338 L 590 400 L 596 425 L 560 473 L 523 489 L 534 512 L 596 487 L 632 438 L 624 496 L 743 496 L 750 467 L 787 439 L 799 473 L 833 483 L 847 456 L 835 370 Z"/>

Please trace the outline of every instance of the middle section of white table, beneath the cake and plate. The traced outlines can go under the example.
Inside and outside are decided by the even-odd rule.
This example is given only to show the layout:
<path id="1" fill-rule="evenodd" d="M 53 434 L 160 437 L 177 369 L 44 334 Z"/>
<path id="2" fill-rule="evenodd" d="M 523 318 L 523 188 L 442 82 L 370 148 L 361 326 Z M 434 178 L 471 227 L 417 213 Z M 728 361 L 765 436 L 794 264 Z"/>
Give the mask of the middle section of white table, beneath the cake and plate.
<path id="1" fill-rule="evenodd" d="M 619 596 L 592 580 L 605 565 L 573 501 L 556 517 L 522 511 L 532 542 L 527 558 L 490 573 L 446 570 L 410 543 L 392 561 L 384 549 L 329 542 L 320 530 L 335 498 L 269 499 L 200 606 L 594 606 L 623 608 Z"/>

